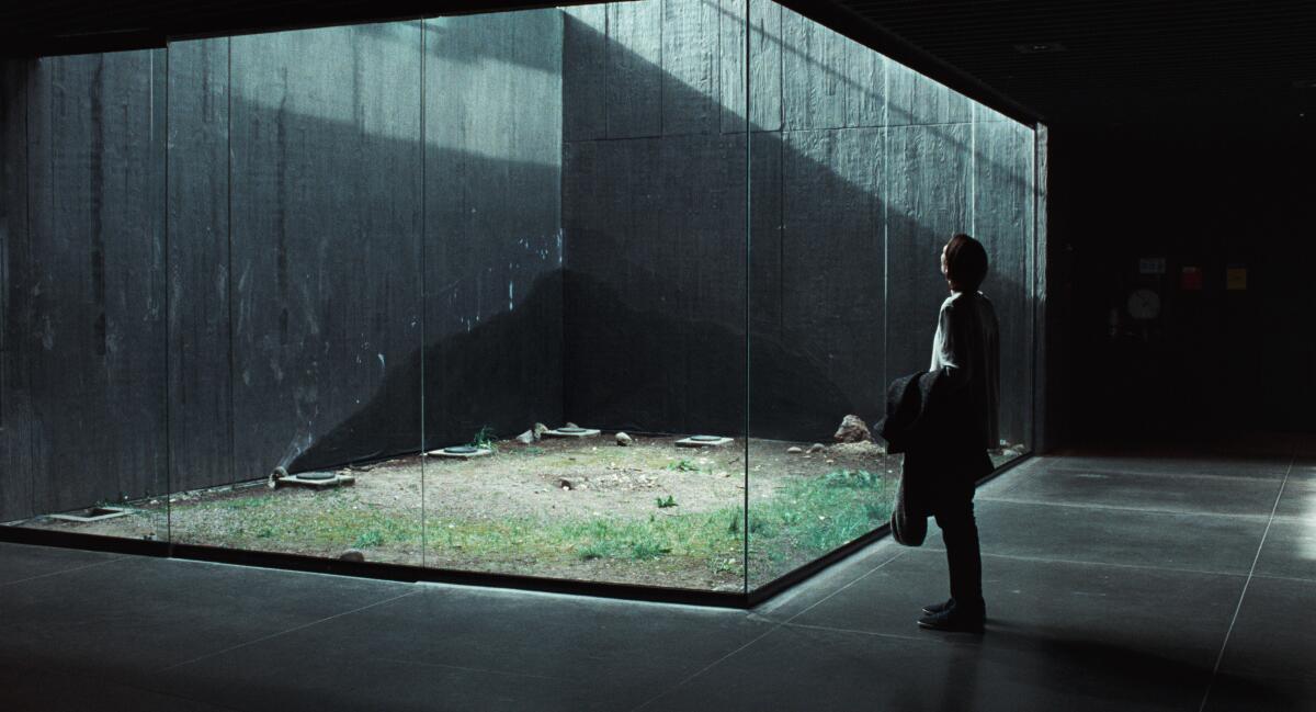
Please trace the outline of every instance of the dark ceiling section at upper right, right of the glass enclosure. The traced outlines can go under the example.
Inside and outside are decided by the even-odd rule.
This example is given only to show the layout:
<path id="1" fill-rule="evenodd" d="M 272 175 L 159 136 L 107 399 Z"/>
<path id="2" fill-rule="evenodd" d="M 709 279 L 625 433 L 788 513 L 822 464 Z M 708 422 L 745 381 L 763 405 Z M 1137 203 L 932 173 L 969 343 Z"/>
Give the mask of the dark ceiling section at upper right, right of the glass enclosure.
<path id="1" fill-rule="evenodd" d="M 1316 108 L 1313 0 L 830 4 L 1051 121 L 1287 124 Z"/>

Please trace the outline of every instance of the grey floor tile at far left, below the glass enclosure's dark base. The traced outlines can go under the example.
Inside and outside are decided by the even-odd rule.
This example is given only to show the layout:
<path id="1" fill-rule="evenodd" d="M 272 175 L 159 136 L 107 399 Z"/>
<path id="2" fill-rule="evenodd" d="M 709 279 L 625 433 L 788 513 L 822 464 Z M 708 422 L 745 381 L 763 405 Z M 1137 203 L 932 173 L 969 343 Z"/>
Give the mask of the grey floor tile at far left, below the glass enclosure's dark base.
<path id="1" fill-rule="evenodd" d="M 125 557 L 0 587 L 0 650 L 137 676 L 416 591 L 415 586 Z"/>

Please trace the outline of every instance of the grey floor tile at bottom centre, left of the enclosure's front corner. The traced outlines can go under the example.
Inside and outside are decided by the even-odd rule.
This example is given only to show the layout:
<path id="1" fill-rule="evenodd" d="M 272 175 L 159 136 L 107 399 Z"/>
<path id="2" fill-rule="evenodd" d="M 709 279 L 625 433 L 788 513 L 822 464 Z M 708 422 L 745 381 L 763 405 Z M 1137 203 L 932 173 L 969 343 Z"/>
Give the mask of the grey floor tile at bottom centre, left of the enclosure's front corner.
<path id="1" fill-rule="evenodd" d="M 744 611 L 438 587 L 168 670 L 159 690 L 271 711 L 628 709 L 770 629 Z"/>

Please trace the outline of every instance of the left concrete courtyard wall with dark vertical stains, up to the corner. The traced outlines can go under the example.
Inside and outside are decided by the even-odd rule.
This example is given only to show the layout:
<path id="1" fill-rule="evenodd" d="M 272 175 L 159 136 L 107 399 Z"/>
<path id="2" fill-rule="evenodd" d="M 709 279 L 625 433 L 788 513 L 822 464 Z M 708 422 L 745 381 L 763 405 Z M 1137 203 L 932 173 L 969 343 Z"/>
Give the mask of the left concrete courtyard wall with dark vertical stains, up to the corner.
<path id="1" fill-rule="evenodd" d="M 7 63 L 0 520 L 558 420 L 561 28 Z"/>

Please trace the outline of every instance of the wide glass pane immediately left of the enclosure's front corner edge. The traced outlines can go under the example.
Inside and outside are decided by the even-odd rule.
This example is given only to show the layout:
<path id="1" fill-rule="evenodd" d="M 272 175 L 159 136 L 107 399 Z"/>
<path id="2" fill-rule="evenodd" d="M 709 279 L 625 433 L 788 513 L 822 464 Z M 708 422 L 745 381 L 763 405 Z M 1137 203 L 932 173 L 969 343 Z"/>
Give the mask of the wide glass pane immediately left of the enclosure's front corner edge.
<path id="1" fill-rule="evenodd" d="M 425 24 L 426 565 L 744 591 L 734 7 Z"/>

